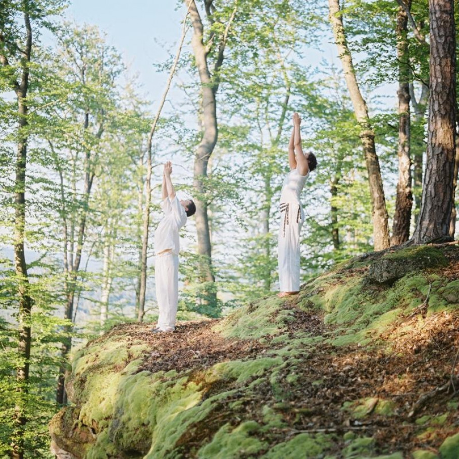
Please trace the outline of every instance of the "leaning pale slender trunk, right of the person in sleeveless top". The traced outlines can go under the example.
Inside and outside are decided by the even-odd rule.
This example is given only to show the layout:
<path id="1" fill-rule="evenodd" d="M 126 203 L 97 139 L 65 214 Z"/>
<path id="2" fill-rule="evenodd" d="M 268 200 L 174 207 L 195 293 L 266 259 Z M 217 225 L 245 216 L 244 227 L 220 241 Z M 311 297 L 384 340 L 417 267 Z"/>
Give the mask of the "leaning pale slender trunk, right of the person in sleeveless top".
<path id="1" fill-rule="evenodd" d="M 350 99 L 354 107 L 355 117 L 360 125 L 360 138 L 367 165 L 368 180 L 370 185 L 370 197 L 373 216 L 373 238 L 375 250 L 383 250 L 389 247 L 389 229 L 386 201 L 379 167 L 379 159 L 376 154 L 375 134 L 368 116 L 367 104 L 362 97 L 359 84 L 355 76 L 349 48 L 347 46 L 344 25 L 341 17 L 339 0 L 329 0 L 330 21 L 338 47 L 339 58 L 344 70 Z"/>

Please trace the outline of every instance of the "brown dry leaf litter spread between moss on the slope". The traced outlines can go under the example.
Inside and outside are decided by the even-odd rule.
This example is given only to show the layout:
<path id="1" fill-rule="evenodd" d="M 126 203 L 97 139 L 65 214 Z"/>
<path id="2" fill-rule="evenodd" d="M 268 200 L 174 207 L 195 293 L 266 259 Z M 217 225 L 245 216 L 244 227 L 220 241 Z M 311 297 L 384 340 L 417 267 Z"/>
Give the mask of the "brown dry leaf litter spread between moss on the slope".
<path id="1" fill-rule="evenodd" d="M 450 264 L 437 270 L 437 274 L 459 279 L 459 251 L 451 252 L 449 258 Z M 284 308 L 291 309 L 294 317 L 287 323 L 291 337 L 299 330 L 312 336 L 334 332 L 321 315 L 297 308 L 294 296 L 286 300 Z M 243 403 L 244 418 L 262 422 L 258 419 L 259 406 L 268 404 L 276 406 L 288 425 L 271 431 L 271 440 L 279 436 L 285 441 L 300 432 L 354 432 L 373 437 L 376 450 L 390 446 L 390 450 L 406 454 L 417 448 L 438 453 L 443 440 L 459 430 L 459 382 L 455 371 L 459 365 L 459 311 L 433 314 L 426 319 L 427 311 L 428 298 L 417 311 L 401 317 L 365 346 L 317 346 L 313 353 L 303 356 L 301 367 L 295 366 L 300 385 L 288 382 L 288 366 L 282 370 L 278 378 L 283 386 L 282 403 L 266 382 L 258 386 L 257 397 L 249 396 Z M 416 326 L 420 320 L 421 331 L 419 324 Z M 189 322 L 179 325 L 174 333 L 160 335 L 126 325 L 133 338 L 154 349 L 138 371 L 201 371 L 218 362 L 256 359 L 276 347 L 270 339 L 261 342 L 225 338 L 213 330 L 216 322 Z M 390 341 L 390 351 L 381 345 L 386 340 Z M 244 398 L 243 392 L 240 398 Z M 359 400 L 366 400 L 360 406 L 360 414 Z M 379 405 L 383 400 L 384 405 Z M 445 415 L 448 403 L 456 409 Z M 343 410 L 346 405 L 350 411 Z M 352 407 L 357 410 L 352 411 Z M 420 435 L 424 420 L 430 425 L 433 420 L 435 427 Z M 217 424 L 212 424 L 212 419 L 206 422 L 209 427 L 198 435 L 200 441 L 202 436 L 209 439 L 222 424 L 222 420 Z M 336 446 L 343 447 L 339 443 Z"/>

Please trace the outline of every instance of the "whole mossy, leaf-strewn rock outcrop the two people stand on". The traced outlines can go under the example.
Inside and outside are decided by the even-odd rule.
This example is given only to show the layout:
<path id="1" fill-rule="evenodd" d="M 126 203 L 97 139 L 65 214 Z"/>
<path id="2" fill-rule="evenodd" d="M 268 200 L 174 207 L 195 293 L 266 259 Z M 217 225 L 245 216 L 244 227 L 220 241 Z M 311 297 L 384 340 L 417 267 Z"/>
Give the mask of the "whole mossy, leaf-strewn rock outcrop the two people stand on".
<path id="1" fill-rule="evenodd" d="M 126 324 L 72 362 L 72 458 L 459 457 L 459 247 L 371 253 L 220 321 Z"/>

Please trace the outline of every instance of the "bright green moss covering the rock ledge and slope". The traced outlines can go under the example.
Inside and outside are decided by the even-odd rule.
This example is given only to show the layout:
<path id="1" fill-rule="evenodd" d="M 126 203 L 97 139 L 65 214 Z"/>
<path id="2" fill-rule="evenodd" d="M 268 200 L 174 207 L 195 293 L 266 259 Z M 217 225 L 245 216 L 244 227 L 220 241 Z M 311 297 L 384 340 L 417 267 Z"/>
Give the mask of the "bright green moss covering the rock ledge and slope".
<path id="1" fill-rule="evenodd" d="M 362 262 L 362 266 L 368 263 L 371 261 Z M 223 337 L 258 339 L 271 346 L 259 358 L 220 361 L 206 370 L 136 373 L 143 362 L 142 355 L 148 350 L 143 342 L 131 342 L 128 334 L 111 332 L 89 343 L 76 354 L 72 376 L 78 401 L 73 422 L 91 426 L 97 434 L 95 444 L 88 446 L 85 459 L 122 456 L 179 459 L 186 454 L 203 459 L 296 459 L 298 451 L 301 457 L 376 457 L 373 438 L 358 437 L 360 432 L 347 432 L 340 438 L 299 433 L 274 446 L 269 441 L 281 441 L 281 429 L 295 426 L 296 421 L 304 421 L 310 414 L 307 408 L 294 409 L 290 401 L 298 397 L 301 384 L 323 384 L 321 379 L 306 382 L 298 376 L 298 369 L 307 368 L 305 359 L 315 352 L 316 346 L 322 342 L 334 345 L 358 342 L 365 346 L 392 324 L 397 325 L 396 333 L 400 334 L 413 331 L 413 327 L 421 329 L 424 319 L 404 328 L 403 317 L 424 301 L 429 282 L 432 284 L 429 314 L 432 314 L 453 308 L 451 298 L 459 281 L 452 285 L 456 281 L 448 282 L 430 270 L 406 275 L 390 288 L 387 285 L 376 288 L 364 282 L 365 273 L 341 270 L 310 281 L 297 297 L 298 308 L 321 309 L 326 313 L 326 321 L 332 326 L 324 336 L 312 336 L 302 330 L 287 333 L 287 326 L 295 320 L 289 304 L 292 299 L 280 300 L 274 295 L 247 304 L 213 326 L 213 331 Z M 318 376 L 310 376 L 313 377 Z M 263 398 L 266 390 L 270 391 L 267 399 Z M 247 400 L 260 424 L 247 419 L 251 416 Z M 392 416 L 394 404 L 384 399 L 363 398 L 345 403 L 343 409 L 354 418 L 370 413 Z M 448 410 L 455 409 L 457 402 L 448 404 Z M 438 441 L 438 426 L 447 422 L 447 414 L 419 418 L 416 423 L 423 426 L 418 427 L 423 432 L 418 438 L 430 442 L 426 444 Z M 85 447 L 88 441 L 93 441 L 89 430 L 88 434 L 89 440 L 83 440 Z M 454 449 L 459 440 L 454 438 L 443 443 L 442 459 L 459 457 Z M 336 456 L 327 451 L 336 451 L 343 441 L 344 449 Z M 437 459 L 436 455 L 421 455 L 422 452 L 413 452 L 414 459 Z M 377 457 L 402 459 L 399 452 Z"/>

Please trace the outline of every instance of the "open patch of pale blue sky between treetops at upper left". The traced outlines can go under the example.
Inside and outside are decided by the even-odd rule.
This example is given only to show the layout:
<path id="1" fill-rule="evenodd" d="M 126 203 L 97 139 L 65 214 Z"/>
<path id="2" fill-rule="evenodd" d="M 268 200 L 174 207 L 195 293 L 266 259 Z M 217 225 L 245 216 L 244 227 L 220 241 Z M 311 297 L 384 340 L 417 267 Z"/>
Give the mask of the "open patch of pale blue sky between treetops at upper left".
<path id="1" fill-rule="evenodd" d="M 185 14 L 185 7 L 177 10 L 177 5 L 175 0 L 74 0 L 64 15 L 105 32 L 108 43 L 122 53 L 129 73 L 138 74 L 148 98 L 155 101 L 164 91 L 167 75 L 161 78 L 152 64 L 163 62 L 166 50 L 176 52 Z"/>

